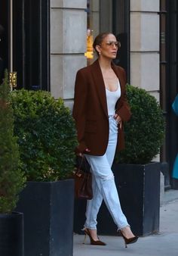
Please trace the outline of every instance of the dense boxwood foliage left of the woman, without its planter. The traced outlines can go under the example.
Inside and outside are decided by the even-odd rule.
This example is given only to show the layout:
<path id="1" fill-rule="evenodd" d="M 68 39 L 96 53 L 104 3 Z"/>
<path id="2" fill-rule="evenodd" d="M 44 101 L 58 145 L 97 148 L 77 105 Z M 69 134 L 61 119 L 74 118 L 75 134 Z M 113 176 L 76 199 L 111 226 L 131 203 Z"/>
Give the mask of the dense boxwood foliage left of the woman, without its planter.
<path id="1" fill-rule="evenodd" d="M 75 165 L 75 124 L 63 100 L 49 92 L 16 90 L 11 93 L 14 133 L 29 181 L 68 178 Z"/>

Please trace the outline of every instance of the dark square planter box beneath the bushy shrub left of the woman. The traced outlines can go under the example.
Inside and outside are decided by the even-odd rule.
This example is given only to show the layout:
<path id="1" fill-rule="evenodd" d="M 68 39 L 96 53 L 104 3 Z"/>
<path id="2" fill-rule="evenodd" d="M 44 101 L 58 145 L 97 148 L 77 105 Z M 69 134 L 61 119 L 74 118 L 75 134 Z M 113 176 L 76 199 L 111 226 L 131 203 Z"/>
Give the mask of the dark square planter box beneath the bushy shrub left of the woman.
<path id="1" fill-rule="evenodd" d="M 74 181 L 28 182 L 17 210 L 24 213 L 25 256 L 72 256 Z"/>

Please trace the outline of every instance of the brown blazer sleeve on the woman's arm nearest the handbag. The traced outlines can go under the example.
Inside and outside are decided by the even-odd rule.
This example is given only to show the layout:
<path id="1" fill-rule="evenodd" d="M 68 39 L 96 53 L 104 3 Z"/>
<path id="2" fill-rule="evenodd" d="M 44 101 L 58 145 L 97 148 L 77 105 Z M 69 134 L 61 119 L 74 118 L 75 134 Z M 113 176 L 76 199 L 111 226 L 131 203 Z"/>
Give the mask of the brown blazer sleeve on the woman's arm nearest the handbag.
<path id="1" fill-rule="evenodd" d="M 82 153 L 87 148 L 84 142 L 84 128 L 86 123 L 86 105 L 87 105 L 87 83 L 84 74 L 78 70 L 75 79 L 75 93 L 72 116 L 75 120 L 75 127 L 78 136 L 78 147 L 76 153 Z"/>

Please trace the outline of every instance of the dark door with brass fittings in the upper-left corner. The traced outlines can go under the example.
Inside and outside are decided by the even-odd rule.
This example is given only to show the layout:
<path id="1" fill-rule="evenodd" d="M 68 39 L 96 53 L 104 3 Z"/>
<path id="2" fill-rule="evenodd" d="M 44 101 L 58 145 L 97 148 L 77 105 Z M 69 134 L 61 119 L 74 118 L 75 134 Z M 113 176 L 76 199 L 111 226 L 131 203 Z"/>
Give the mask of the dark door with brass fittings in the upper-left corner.
<path id="1" fill-rule="evenodd" d="M 1 70 L 17 89 L 50 90 L 50 0 L 0 0 L 0 24 Z"/>

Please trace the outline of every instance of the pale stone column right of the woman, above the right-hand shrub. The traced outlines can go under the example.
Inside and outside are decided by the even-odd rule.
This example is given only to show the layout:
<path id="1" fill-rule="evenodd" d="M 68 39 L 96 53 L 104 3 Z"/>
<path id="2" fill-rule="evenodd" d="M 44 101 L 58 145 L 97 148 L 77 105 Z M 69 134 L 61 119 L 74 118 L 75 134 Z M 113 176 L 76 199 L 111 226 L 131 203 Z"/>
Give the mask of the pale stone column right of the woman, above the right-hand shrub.
<path id="1" fill-rule="evenodd" d="M 159 0 L 130 0 L 130 83 L 159 100 Z"/>

